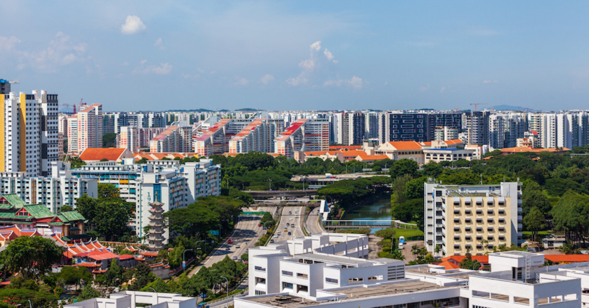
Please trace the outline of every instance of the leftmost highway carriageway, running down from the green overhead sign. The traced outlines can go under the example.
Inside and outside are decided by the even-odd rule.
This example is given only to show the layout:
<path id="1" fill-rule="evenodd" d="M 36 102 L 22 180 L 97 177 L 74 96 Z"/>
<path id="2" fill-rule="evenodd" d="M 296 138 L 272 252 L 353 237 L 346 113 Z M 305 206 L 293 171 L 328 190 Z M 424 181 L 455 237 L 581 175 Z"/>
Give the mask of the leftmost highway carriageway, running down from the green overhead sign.
<path id="1" fill-rule="evenodd" d="M 270 208 L 262 208 L 262 210 L 266 209 L 269 210 Z M 260 210 L 260 208 L 258 208 L 258 210 Z M 231 234 L 231 237 L 229 237 L 233 243 L 229 244 L 227 241 L 224 241 L 221 246 L 217 247 L 211 256 L 204 260 L 204 263 L 198 265 L 192 271 L 190 271 L 190 273 L 188 273 L 188 277 L 192 277 L 194 274 L 196 274 L 198 270 L 200 270 L 201 266 L 210 267 L 214 263 L 223 260 L 225 256 L 229 256 L 230 259 L 233 259 L 233 257 L 241 259 L 241 255 L 246 253 L 247 249 L 254 247 L 256 241 L 262 236 L 264 232 L 262 227 L 258 226 L 260 223 L 260 218 L 262 217 L 240 216 L 239 222 L 237 223 L 233 234 Z M 237 248 L 237 245 L 240 247 Z"/>

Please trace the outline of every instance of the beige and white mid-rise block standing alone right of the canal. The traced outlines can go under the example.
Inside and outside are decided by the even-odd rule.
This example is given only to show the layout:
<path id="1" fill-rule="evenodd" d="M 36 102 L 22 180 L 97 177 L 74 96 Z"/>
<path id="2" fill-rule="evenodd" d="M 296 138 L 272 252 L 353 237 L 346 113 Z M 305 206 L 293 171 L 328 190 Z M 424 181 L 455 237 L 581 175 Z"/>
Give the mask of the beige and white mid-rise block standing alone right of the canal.
<path id="1" fill-rule="evenodd" d="M 424 183 L 424 240 L 443 256 L 484 254 L 522 239 L 521 184 Z"/>

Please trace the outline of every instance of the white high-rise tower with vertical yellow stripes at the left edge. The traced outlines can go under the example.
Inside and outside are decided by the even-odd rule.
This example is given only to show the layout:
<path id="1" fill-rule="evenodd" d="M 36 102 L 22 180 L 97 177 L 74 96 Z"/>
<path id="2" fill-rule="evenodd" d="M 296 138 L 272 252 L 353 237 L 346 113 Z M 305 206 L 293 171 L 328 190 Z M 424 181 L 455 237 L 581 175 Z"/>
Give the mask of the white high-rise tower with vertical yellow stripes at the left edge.
<path id="1" fill-rule="evenodd" d="M 0 172 L 47 175 L 58 160 L 57 94 L 0 94 Z"/>

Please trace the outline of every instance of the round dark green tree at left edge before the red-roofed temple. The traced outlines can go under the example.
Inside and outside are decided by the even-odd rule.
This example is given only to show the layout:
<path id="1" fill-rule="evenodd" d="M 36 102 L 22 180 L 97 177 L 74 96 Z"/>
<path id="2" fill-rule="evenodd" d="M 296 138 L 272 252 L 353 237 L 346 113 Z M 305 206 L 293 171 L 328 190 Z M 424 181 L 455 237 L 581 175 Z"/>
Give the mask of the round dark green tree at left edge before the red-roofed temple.
<path id="1" fill-rule="evenodd" d="M 0 254 L 0 261 L 8 271 L 21 273 L 25 278 L 39 277 L 61 258 L 61 249 L 54 241 L 43 237 L 21 236 L 12 240 Z"/>

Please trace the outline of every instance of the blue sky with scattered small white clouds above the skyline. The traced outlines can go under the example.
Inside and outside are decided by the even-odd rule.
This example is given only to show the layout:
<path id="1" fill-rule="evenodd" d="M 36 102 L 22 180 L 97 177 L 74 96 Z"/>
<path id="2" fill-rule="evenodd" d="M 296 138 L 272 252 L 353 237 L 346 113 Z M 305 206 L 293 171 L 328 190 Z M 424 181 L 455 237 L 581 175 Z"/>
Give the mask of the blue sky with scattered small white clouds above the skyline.
<path id="1" fill-rule="evenodd" d="M 0 78 L 104 111 L 587 108 L 589 2 L 2 1 Z"/>

